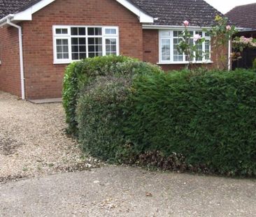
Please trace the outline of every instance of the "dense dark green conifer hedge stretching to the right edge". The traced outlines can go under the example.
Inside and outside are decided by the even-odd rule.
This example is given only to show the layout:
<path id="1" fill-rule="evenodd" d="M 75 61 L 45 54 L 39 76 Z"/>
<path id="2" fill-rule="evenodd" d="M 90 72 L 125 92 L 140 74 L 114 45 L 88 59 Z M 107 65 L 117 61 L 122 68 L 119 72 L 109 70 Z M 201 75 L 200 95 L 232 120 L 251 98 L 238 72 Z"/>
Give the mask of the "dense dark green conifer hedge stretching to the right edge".
<path id="1" fill-rule="evenodd" d="M 255 86 L 255 73 L 246 70 L 138 76 L 126 139 L 136 155 L 174 152 L 211 172 L 256 175 Z"/>

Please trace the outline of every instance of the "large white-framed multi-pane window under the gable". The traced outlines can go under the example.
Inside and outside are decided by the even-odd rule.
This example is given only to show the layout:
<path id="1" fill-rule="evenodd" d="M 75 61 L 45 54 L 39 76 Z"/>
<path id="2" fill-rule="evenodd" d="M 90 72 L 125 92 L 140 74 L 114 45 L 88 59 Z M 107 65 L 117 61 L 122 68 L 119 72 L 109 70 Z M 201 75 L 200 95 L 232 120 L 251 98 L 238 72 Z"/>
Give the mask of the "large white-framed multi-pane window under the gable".
<path id="1" fill-rule="evenodd" d="M 118 27 L 54 26 L 54 63 L 119 54 Z"/>

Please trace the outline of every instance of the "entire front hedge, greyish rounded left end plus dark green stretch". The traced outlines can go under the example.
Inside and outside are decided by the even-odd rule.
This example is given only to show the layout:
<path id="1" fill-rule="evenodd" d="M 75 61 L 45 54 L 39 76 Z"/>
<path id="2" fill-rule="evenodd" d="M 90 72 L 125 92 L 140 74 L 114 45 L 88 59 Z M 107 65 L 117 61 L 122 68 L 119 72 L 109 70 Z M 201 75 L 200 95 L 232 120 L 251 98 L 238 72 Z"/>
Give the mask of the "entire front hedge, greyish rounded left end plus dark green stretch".
<path id="1" fill-rule="evenodd" d="M 148 67 L 135 77 L 99 77 L 83 89 L 78 117 L 83 149 L 104 160 L 256 174 L 253 71 Z"/>

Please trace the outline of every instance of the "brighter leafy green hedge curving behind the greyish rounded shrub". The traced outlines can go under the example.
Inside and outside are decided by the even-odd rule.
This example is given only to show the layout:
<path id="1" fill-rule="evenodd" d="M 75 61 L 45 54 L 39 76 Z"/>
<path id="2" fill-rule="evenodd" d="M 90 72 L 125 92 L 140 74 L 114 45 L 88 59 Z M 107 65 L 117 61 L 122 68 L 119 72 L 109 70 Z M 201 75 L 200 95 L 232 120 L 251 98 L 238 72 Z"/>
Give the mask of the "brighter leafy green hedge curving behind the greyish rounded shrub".
<path id="1" fill-rule="evenodd" d="M 151 73 L 159 70 L 157 66 L 123 56 L 94 57 L 71 63 L 66 68 L 62 91 L 66 123 L 68 124 L 67 133 L 78 135 L 76 117 L 78 98 L 80 92 L 94 82 L 97 77 L 133 76 L 136 73 Z"/>

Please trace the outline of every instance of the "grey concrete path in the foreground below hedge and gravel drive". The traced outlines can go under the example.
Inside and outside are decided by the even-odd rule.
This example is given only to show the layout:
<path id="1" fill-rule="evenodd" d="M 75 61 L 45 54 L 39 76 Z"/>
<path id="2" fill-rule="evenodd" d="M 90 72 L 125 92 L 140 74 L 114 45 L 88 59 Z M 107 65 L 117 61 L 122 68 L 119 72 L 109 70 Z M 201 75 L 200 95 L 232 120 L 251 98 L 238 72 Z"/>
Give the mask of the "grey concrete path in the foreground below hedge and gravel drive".
<path id="1" fill-rule="evenodd" d="M 108 166 L 0 184 L 0 216 L 255 216 L 256 182 Z"/>

